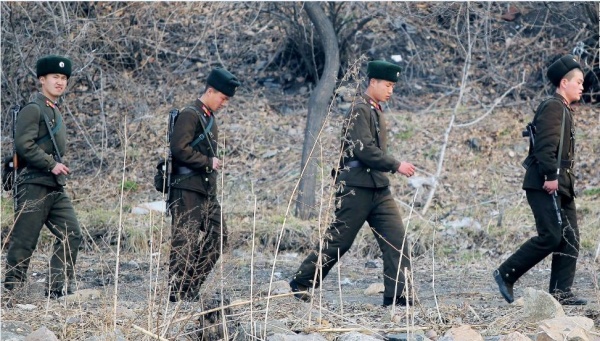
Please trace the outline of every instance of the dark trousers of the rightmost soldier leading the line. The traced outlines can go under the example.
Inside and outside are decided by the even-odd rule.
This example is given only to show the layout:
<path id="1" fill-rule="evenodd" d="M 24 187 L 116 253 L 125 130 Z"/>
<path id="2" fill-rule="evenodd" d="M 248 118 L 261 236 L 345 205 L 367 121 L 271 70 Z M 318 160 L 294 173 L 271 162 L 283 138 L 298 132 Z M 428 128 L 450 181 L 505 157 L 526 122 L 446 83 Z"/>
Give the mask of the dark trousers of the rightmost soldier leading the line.
<path id="1" fill-rule="evenodd" d="M 552 254 L 550 293 L 570 291 L 579 256 L 579 228 L 575 199 L 564 195 L 557 198 L 562 211 L 562 225 L 554 208 L 552 196 L 545 191 L 527 190 L 527 202 L 533 211 L 538 235 L 527 240 L 498 270 L 508 283 L 514 283 L 529 269 Z"/>

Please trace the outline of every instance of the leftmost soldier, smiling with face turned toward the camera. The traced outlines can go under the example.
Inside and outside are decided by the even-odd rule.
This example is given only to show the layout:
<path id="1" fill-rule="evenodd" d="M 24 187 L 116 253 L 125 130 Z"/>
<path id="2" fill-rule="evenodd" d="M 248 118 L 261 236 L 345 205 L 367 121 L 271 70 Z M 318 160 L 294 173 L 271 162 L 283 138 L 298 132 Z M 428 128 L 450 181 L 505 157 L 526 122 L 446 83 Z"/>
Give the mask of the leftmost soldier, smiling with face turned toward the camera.
<path id="1" fill-rule="evenodd" d="M 69 168 L 57 161 L 57 155 L 65 155 L 67 136 L 57 101 L 67 88 L 71 61 L 46 56 L 38 60 L 36 71 L 41 92 L 17 117 L 14 142 L 20 169 L 19 192 L 15 195 L 18 206 L 6 256 L 4 287 L 12 290 L 25 281 L 31 255 L 45 224 L 56 236 L 46 295 L 58 298 L 75 289 L 74 266 L 81 243 L 79 222 L 64 190 Z"/>

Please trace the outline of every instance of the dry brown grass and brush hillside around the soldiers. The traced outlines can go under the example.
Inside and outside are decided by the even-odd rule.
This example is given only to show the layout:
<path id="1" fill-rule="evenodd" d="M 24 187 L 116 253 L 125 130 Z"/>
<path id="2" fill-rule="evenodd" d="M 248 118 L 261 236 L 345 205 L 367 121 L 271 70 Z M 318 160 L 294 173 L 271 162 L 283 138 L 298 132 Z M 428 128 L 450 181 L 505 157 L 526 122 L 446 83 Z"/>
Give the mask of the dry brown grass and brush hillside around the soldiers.
<path id="1" fill-rule="evenodd" d="M 223 65 L 243 80 L 236 97 L 218 115 L 219 142 L 225 150 L 220 199 L 232 237 L 221 268 L 203 289 L 211 297 L 224 288 L 231 302 L 260 299 L 228 311 L 231 335 L 240 333 L 233 327 L 238 324 L 259 335 L 250 322 L 259 326 L 267 319 L 296 331 L 312 330 L 315 324 L 418 326 L 443 333 L 452 325 L 469 323 L 485 335 L 531 328 L 515 318 L 518 308 L 501 304 L 489 273 L 534 232 L 520 188 L 520 163 L 527 146 L 521 130 L 533 117 L 535 105 L 552 91 L 543 77 L 551 60 L 582 41 L 588 46 L 582 55 L 586 71 L 593 69 L 594 57 L 598 67 L 597 3 L 327 5 L 344 49 L 340 79 L 347 79 L 338 86 L 316 149 L 323 176 L 322 190 L 317 191 L 322 204 L 315 210 L 322 215 L 311 221 L 295 219 L 288 210 L 300 175 L 306 102 L 322 67 L 322 51 L 301 3 L 1 6 L 2 155 L 12 148 L 8 109 L 26 103 L 36 90 L 35 60 L 47 53 L 68 55 L 75 67 L 63 104 L 73 170 L 68 190 L 87 235 L 78 280 L 81 289 L 106 289 L 99 300 L 68 305 L 44 301 L 41 284 L 32 281 L 17 299 L 42 309 L 23 312 L 3 301 L 3 319 L 47 325 L 65 340 L 84 340 L 114 329 L 131 340 L 150 339 L 132 324 L 170 340 L 197 338 L 197 318 L 190 316 L 198 307 L 165 303 L 169 222 L 158 214 L 129 212 L 139 203 L 162 199 L 152 188 L 152 176 L 156 160 L 165 152 L 168 110 L 190 101 L 210 69 Z M 590 8 L 596 11 L 595 22 Z M 330 219 L 328 174 L 339 156 L 341 113 L 348 103 L 344 96 L 364 78 L 364 72 L 352 66 L 357 60 L 390 60 L 391 55 L 401 55 L 405 69 L 396 95 L 386 105 L 391 152 L 415 163 L 417 176 L 424 180 L 438 177 L 435 188 L 392 179 L 413 243 L 414 284 L 423 305 L 390 318 L 389 311 L 375 306 L 379 296 L 362 298 L 362 289 L 380 280 L 381 272 L 363 268 L 365 257 L 377 259 L 379 252 L 367 229 L 344 260 L 345 266 L 352 266 L 330 275 L 324 283 L 327 299 L 310 317 L 289 297 L 264 300 L 270 280 L 290 276 L 302 258 L 295 254 L 315 245 L 317 228 Z M 571 313 L 598 321 L 598 102 L 581 105 L 576 122 L 582 235 L 576 284 L 594 305 Z M 11 207 L 4 193 L 3 236 L 12 224 Z M 464 227 L 452 225 L 465 218 L 471 222 Z M 5 243 L 4 238 L 3 251 Z M 30 274 L 44 276 L 50 245 L 45 233 Z M 548 264 L 540 264 L 523 286 L 545 288 L 546 268 Z M 338 274 L 351 283 L 344 289 L 344 304 L 339 304 L 336 291 Z M 438 292 L 431 289 L 433 275 Z"/>

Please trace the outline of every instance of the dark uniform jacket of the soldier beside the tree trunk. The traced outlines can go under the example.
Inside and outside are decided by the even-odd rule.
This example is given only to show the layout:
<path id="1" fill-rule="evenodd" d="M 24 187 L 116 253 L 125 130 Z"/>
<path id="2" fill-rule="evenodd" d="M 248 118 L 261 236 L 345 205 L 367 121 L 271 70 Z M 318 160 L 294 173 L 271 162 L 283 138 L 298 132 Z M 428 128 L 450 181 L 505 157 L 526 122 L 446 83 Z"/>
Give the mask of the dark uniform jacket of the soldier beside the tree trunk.
<path id="1" fill-rule="evenodd" d="M 390 184 L 385 173 L 394 173 L 400 162 L 387 155 L 387 128 L 381 107 L 367 95 L 350 111 L 342 129 L 344 157 L 337 182 L 348 186 L 383 188 Z M 347 169 L 352 161 L 361 166 Z"/>

